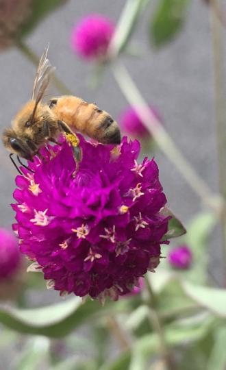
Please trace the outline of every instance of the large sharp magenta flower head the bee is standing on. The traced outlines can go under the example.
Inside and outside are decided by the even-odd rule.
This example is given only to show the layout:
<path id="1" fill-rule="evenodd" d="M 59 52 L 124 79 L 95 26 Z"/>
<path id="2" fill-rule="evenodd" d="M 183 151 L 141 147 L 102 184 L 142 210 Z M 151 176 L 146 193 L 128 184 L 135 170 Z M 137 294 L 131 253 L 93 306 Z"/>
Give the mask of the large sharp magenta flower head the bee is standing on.
<path id="1" fill-rule="evenodd" d="M 137 162 L 140 143 L 90 143 L 82 136 L 79 168 L 71 145 L 42 148 L 16 177 L 14 230 L 20 249 L 47 287 L 103 300 L 129 293 L 160 261 L 168 217 L 158 166 Z"/>

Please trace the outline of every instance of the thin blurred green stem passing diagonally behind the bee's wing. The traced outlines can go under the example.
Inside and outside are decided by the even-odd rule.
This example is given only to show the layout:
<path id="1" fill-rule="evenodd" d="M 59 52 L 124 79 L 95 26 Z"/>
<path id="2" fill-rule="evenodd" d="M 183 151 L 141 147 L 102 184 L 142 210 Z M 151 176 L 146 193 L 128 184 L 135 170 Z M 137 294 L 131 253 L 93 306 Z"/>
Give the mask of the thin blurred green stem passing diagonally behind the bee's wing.
<path id="1" fill-rule="evenodd" d="M 23 40 L 16 40 L 16 47 L 30 62 L 32 62 L 35 66 L 38 66 L 40 58 Z M 62 95 L 73 95 L 71 90 L 54 73 L 52 79 L 55 87 Z"/>

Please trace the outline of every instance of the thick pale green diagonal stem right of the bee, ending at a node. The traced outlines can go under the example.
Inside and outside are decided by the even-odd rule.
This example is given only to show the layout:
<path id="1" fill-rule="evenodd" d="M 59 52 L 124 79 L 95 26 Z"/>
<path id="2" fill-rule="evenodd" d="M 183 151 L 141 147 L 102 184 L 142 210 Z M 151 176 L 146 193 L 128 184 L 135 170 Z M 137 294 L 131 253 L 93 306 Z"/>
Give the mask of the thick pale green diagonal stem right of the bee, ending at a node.
<path id="1" fill-rule="evenodd" d="M 147 101 L 142 97 L 140 91 L 136 87 L 136 84 L 131 79 L 127 69 L 120 62 L 112 63 L 112 73 L 119 88 L 131 106 L 134 107 L 138 116 L 142 120 L 142 123 L 147 127 L 147 130 L 153 136 L 153 139 L 158 144 L 160 149 L 166 154 L 166 156 L 175 164 L 175 167 L 179 170 L 181 175 L 184 176 L 190 187 L 194 190 L 197 195 L 202 199 L 203 203 L 210 208 L 213 208 L 217 214 L 221 214 L 225 203 L 223 199 L 212 193 L 199 174 L 193 169 L 188 160 L 183 154 L 177 149 L 175 143 L 168 135 L 162 124 L 158 121 L 155 115 L 147 108 Z"/>

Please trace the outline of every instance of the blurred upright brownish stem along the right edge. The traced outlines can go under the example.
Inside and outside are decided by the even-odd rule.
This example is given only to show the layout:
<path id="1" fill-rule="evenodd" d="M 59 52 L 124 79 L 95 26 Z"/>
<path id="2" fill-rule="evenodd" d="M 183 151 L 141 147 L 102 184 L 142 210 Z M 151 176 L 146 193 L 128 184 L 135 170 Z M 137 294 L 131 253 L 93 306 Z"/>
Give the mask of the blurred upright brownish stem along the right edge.
<path id="1" fill-rule="evenodd" d="M 215 127 L 216 127 L 216 147 L 218 157 L 218 186 L 221 195 L 226 198 L 226 127 L 225 127 L 225 75 L 224 75 L 224 45 L 222 25 L 216 14 L 220 2 L 210 0 L 210 21 L 212 31 L 212 53 L 214 68 L 214 101 L 215 101 Z M 224 285 L 226 286 L 226 212 L 221 217 L 221 227 L 223 232 L 223 260 Z"/>

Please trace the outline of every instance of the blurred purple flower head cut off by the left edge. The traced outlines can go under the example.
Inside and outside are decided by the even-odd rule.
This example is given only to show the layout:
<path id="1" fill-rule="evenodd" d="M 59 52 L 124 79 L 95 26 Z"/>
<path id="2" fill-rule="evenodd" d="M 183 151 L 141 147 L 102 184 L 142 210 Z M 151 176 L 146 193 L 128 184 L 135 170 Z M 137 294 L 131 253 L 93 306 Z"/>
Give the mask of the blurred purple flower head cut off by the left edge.
<path id="1" fill-rule="evenodd" d="M 12 277 L 21 262 L 18 240 L 12 232 L 0 228 L 0 281 Z"/>

